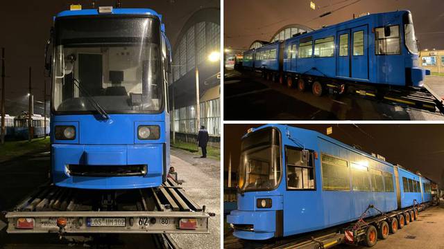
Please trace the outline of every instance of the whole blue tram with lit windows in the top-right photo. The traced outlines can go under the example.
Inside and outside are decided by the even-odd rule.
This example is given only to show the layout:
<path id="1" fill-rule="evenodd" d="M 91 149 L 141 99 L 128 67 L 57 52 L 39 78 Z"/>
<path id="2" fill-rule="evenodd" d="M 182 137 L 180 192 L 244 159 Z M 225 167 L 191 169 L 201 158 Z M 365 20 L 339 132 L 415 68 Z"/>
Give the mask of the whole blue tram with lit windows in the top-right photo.
<path id="1" fill-rule="evenodd" d="M 278 78 L 315 95 L 348 84 L 422 87 L 428 70 L 418 67 L 418 47 L 409 10 L 366 15 L 271 44 L 283 47 L 264 63 L 255 50 L 253 64 L 266 77 Z M 251 50 L 246 51 L 250 53 Z M 281 62 L 282 61 L 282 62 Z M 282 63 L 282 66 L 276 66 Z M 264 65 L 264 66 L 263 66 Z M 250 66 L 250 65 L 245 65 Z"/>

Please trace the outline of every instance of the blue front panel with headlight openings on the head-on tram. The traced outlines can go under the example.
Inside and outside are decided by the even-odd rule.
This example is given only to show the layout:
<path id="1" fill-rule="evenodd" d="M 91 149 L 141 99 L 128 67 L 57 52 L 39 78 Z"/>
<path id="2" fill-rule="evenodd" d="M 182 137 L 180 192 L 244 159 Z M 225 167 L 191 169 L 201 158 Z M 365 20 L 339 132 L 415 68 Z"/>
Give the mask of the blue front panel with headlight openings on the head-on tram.
<path id="1" fill-rule="evenodd" d="M 137 139 L 139 124 L 159 125 L 160 139 Z M 166 124 L 169 124 L 166 113 L 110 114 L 110 119 L 105 121 L 96 120 L 92 115 L 51 116 L 51 129 L 56 125 L 76 127 L 74 140 L 56 140 L 51 134 L 53 182 L 61 187 L 85 189 L 128 189 L 161 185 L 164 164 L 169 165 L 169 129 Z M 66 165 L 148 167 L 145 176 L 85 177 L 69 176 Z"/>

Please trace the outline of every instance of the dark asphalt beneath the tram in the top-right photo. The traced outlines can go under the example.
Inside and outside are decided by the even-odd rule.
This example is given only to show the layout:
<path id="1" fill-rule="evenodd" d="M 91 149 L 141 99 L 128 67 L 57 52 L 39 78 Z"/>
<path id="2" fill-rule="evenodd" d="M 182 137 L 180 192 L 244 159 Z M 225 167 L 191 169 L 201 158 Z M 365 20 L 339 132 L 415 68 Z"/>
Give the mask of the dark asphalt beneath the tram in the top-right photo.
<path id="1" fill-rule="evenodd" d="M 426 84 L 444 95 L 444 77 L 427 76 Z M 323 95 L 259 77 L 226 71 L 223 83 L 225 120 L 444 120 L 429 111 L 368 100 L 357 95 Z"/>

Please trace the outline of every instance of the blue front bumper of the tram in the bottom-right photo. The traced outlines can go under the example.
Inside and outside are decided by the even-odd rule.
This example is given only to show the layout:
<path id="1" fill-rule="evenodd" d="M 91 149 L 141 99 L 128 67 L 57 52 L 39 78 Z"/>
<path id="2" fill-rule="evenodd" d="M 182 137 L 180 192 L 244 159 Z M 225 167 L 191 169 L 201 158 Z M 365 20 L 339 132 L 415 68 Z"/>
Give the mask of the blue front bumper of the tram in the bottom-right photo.
<path id="1" fill-rule="evenodd" d="M 276 211 L 233 210 L 227 222 L 234 228 L 233 235 L 240 239 L 264 240 L 275 237 Z"/>

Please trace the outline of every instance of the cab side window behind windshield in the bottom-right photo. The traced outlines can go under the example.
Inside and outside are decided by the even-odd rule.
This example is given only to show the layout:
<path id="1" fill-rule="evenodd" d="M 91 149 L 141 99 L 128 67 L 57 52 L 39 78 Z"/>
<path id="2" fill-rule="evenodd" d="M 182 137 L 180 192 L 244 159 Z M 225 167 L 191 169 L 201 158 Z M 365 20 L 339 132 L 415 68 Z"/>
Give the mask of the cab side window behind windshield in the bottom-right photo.
<path id="1" fill-rule="evenodd" d="M 289 190 L 314 190 L 313 152 L 304 155 L 302 149 L 285 147 L 287 187 Z"/>

